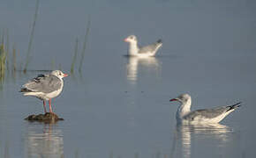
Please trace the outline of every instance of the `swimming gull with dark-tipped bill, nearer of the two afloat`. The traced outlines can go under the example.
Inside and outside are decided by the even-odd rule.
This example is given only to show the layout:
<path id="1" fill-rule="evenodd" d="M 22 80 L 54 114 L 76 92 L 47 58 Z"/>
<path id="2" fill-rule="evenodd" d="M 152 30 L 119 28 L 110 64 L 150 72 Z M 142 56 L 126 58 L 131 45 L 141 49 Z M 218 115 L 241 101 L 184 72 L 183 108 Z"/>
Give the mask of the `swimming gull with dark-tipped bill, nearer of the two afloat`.
<path id="1" fill-rule="evenodd" d="M 241 102 L 230 106 L 220 106 L 213 109 L 202 109 L 191 111 L 192 98 L 188 94 L 182 94 L 177 98 L 169 100 L 177 101 L 180 106 L 177 109 L 177 123 L 195 123 L 195 124 L 215 124 L 237 109 Z"/>

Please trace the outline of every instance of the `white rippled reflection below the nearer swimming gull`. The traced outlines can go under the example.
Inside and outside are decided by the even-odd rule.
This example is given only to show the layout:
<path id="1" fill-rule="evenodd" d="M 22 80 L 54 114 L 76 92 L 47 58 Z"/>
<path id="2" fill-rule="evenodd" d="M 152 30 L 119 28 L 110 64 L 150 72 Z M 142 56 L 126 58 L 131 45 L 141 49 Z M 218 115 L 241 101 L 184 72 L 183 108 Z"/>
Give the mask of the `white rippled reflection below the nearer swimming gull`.
<path id="1" fill-rule="evenodd" d="M 180 143 L 182 157 L 191 157 L 192 137 L 210 138 L 218 140 L 218 145 L 222 146 L 230 138 L 232 129 L 221 124 L 214 125 L 177 125 L 177 142 Z"/>

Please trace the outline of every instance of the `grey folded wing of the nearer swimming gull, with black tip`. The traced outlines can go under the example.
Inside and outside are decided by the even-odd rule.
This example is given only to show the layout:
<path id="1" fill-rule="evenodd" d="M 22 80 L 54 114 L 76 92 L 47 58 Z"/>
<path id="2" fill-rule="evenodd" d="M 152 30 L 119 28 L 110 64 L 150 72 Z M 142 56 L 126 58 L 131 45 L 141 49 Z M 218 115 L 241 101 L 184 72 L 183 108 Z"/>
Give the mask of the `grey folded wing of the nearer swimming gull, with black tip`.
<path id="1" fill-rule="evenodd" d="M 222 113 L 225 113 L 227 111 L 236 109 L 237 107 L 239 107 L 241 104 L 241 102 L 237 103 L 237 104 L 232 104 L 230 106 L 221 106 L 221 107 L 216 107 L 214 109 L 202 109 L 202 110 L 198 110 L 198 111 L 192 111 L 189 114 L 184 116 L 184 119 L 187 120 L 193 120 L 194 118 L 216 118 L 220 115 L 222 115 Z"/>

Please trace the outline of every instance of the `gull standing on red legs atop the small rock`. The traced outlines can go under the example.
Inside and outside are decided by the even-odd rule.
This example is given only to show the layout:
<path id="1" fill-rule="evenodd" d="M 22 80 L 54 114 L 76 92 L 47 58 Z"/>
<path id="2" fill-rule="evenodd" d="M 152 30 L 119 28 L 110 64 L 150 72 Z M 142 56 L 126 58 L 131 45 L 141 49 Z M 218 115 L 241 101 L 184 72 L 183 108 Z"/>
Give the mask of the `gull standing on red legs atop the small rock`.
<path id="1" fill-rule="evenodd" d="M 24 96 L 37 97 L 43 101 L 43 109 L 46 113 L 45 101 L 49 101 L 49 112 L 53 112 L 50 101 L 51 98 L 57 97 L 63 90 L 64 81 L 63 77 L 68 76 L 60 70 L 54 70 L 47 75 L 37 75 L 34 79 L 22 86 L 20 92 Z"/>

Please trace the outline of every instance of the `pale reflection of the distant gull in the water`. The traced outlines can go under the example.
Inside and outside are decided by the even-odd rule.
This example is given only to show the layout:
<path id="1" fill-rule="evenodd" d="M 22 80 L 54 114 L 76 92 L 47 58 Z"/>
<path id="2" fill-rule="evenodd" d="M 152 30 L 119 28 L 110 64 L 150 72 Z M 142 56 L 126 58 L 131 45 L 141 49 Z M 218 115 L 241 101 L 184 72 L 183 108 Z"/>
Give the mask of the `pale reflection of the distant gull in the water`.
<path id="1" fill-rule="evenodd" d="M 138 57 L 128 57 L 128 62 L 126 65 L 127 68 L 127 79 L 131 83 L 136 83 L 138 79 L 138 69 L 141 68 L 150 68 L 150 70 L 158 71 L 159 70 L 159 61 L 154 58 L 138 58 Z"/>

